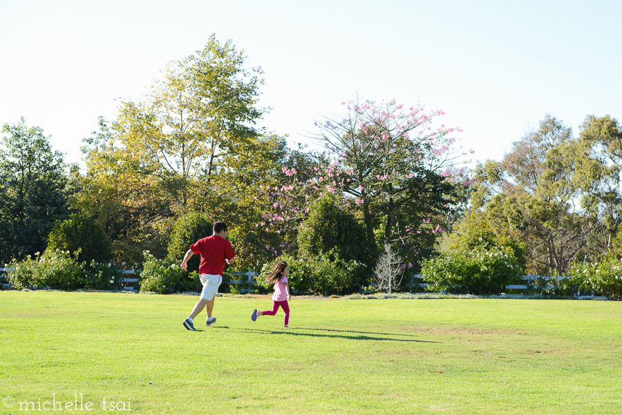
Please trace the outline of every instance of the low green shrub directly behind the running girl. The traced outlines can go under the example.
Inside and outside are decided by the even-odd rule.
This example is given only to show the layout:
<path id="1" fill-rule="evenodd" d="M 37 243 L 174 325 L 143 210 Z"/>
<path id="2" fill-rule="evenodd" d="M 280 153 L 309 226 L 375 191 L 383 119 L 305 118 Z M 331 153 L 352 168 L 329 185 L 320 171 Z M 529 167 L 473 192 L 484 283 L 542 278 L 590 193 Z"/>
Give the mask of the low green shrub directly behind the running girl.
<path id="1" fill-rule="evenodd" d="M 281 255 L 278 260 L 288 263 L 290 288 L 297 293 L 317 293 L 325 296 L 352 293 L 358 291 L 368 275 L 363 264 L 341 260 L 334 251 L 319 255 L 301 255 L 299 258 Z M 266 289 L 272 288 L 265 279 L 272 271 L 272 266 L 272 263 L 264 264 L 260 275 L 256 277 L 257 284 Z"/>

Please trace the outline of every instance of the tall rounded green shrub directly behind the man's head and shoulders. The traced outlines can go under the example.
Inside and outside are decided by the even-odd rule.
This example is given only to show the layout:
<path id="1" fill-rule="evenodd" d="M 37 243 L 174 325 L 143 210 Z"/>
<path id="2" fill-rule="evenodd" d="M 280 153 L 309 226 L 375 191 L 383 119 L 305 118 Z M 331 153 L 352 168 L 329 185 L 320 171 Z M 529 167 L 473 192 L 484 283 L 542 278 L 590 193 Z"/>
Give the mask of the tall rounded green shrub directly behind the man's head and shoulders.
<path id="1" fill-rule="evenodd" d="M 181 262 L 190 245 L 211 235 L 212 223 L 205 213 L 191 212 L 179 218 L 173 226 L 168 246 L 169 257 Z M 189 271 L 198 271 L 200 255 L 194 255 L 188 261 Z"/>

